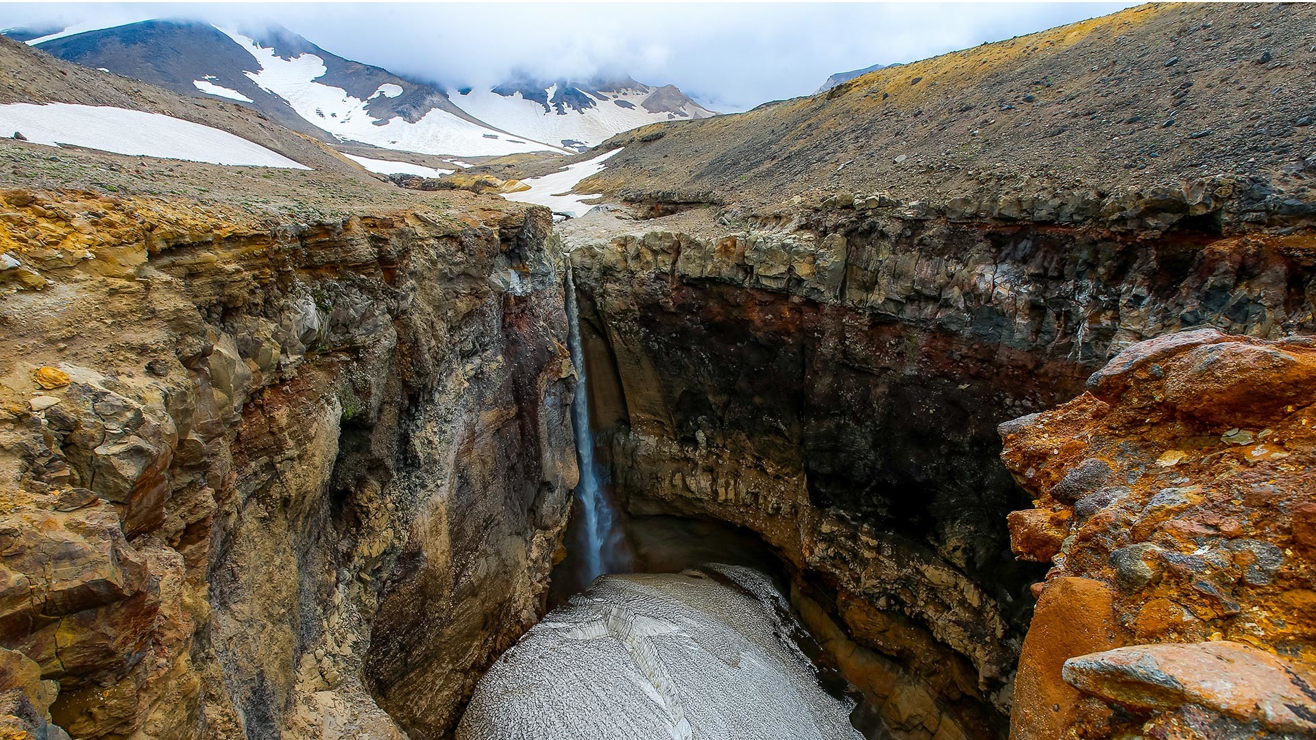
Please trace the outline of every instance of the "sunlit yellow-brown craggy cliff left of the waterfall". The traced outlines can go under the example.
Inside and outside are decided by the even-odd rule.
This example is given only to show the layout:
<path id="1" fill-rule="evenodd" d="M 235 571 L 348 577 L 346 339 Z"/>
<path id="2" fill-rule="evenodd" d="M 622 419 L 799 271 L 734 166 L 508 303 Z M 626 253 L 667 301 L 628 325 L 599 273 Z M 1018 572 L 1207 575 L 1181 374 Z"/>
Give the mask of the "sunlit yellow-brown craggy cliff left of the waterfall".
<path id="1" fill-rule="evenodd" d="M 8 714 L 57 681 L 78 737 L 455 723 L 576 478 L 547 212 L 0 198 Z"/>

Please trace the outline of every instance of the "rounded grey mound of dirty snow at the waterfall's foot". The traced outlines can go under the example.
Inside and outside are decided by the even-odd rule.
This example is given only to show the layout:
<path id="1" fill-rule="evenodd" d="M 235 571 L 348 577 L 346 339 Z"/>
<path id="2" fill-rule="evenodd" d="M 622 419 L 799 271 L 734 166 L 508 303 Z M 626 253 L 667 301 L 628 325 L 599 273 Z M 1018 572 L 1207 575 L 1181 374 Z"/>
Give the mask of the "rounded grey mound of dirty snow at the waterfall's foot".
<path id="1" fill-rule="evenodd" d="M 603 575 L 480 679 L 459 740 L 841 740 L 772 582 L 747 568 Z"/>

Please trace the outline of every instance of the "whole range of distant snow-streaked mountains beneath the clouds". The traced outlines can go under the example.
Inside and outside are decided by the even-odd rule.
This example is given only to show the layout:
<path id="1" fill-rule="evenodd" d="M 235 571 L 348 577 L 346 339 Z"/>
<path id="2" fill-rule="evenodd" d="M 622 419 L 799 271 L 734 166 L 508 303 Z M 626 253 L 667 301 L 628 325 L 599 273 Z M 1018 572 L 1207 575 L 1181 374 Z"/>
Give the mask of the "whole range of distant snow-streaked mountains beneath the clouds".
<path id="1" fill-rule="evenodd" d="M 333 144 L 465 157 L 579 151 L 624 130 L 713 116 L 674 86 L 533 82 L 449 93 L 345 59 L 286 29 L 151 20 L 83 33 L 11 29 L 63 59 L 184 95 L 243 103 Z M 42 38 L 50 38 L 41 41 Z"/>

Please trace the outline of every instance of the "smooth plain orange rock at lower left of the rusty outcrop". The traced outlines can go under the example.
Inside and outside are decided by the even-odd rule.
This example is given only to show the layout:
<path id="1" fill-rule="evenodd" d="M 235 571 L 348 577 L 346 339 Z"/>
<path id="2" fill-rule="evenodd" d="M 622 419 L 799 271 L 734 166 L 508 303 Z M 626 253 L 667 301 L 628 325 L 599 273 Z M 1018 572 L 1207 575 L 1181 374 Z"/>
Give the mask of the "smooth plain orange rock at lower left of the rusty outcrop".
<path id="1" fill-rule="evenodd" d="M 1074 723 L 1080 694 L 1061 678 L 1061 666 L 1119 644 L 1112 603 L 1111 587 L 1100 581 L 1046 583 L 1019 658 L 1011 737 L 1059 737 Z"/>

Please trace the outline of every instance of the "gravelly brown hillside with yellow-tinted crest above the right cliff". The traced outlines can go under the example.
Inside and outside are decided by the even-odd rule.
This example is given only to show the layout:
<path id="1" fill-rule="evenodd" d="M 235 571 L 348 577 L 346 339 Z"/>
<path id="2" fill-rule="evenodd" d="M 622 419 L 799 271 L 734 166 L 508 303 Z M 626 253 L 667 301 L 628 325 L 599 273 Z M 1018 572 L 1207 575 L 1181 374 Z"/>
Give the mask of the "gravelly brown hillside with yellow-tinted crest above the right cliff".
<path id="1" fill-rule="evenodd" d="M 1234 172 L 1307 187 L 1313 37 L 1312 5 L 1144 5 L 819 96 L 626 132 L 605 144 L 625 151 L 580 187 L 762 203 L 809 191 L 1050 198 Z"/>

